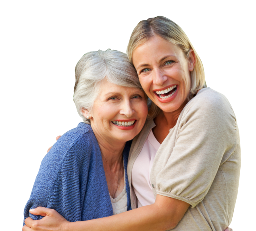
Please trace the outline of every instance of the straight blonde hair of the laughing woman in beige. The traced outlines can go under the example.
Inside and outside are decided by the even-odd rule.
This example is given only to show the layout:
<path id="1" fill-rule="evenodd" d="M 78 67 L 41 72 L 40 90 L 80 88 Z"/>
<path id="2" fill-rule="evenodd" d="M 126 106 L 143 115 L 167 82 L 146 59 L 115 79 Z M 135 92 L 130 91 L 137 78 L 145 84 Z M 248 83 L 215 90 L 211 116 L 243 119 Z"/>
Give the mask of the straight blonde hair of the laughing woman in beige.
<path id="1" fill-rule="evenodd" d="M 194 97 L 197 90 L 206 87 L 204 66 L 196 52 L 196 49 L 190 42 L 185 32 L 177 25 L 173 20 L 164 16 L 157 16 L 155 18 L 148 18 L 147 20 L 140 21 L 131 33 L 129 43 L 127 45 L 126 53 L 132 63 L 133 51 L 143 43 L 146 43 L 154 36 L 159 36 L 174 45 L 177 45 L 184 54 L 186 59 L 189 58 L 189 50 L 192 49 L 196 56 L 196 65 L 191 72 L 191 89 L 187 99 L 191 100 Z M 161 109 L 152 102 L 150 110 L 148 112 L 149 117 L 156 117 Z"/>

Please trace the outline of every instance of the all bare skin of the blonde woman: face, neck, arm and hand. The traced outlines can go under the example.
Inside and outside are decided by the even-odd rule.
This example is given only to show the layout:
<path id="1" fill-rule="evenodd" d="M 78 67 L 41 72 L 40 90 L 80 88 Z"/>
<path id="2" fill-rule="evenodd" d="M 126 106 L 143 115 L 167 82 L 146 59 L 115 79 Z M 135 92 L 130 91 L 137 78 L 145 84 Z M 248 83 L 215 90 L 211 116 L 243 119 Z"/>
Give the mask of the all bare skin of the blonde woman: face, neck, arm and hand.
<path id="1" fill-rule="evenodd" d="M 154 119 L 156 129 L 153 130 L 156 139 L 162 143 L 187 103 L 191 84 L 190 72 L 195 66 L 194 52 L 190 51 L 189 58 L 185 59 L 179 47 L 160 37 L 154 37 L 135 49 L 133 64 L 146 94 L 162 109 Z M 171 100 L 161 102 L 154 91 L 172 84 L 178 86 L 176 95 Z M 110 217 L 74 223 L 67 222 L 56 211 L 38 207 L 31 213 L 46 217 L 41 221 L 28 218 L 25 223 L 33 227 L 32 230 L 45 231 L 164 231 L 176 227 L 188 207 L 189 204 L 181 200 L 157 195 L 154 204 Z M 56 219 L 60 222 L 56 223 Z M 23 230 L 31 231 L 27 227 Z M 225 229 L 230 230 L 231 228 Z"/>

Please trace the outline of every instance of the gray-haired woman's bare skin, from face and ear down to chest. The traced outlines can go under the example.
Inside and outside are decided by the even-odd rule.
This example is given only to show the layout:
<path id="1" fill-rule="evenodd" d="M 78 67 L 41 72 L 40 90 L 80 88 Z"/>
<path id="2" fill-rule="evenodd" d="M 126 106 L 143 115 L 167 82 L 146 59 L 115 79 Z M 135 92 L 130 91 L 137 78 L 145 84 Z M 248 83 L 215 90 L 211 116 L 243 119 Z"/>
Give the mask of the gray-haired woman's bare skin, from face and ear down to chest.
<path id="1" fill-rule="evenodd" d="M 91 111 L 83 110 L 83 116 L 91 119 L 92 130 L 100 146 L 108 191 L 116 198 L 124 188 L 123 149 L 128 140 L 142 130 L 148 114 L 144 92 L 101 82 L 100 93 Z M 136 120 L 133 129 L 123 130 L 112 121 Z M 127 127 L 128 128 L 128 127 Z"/>

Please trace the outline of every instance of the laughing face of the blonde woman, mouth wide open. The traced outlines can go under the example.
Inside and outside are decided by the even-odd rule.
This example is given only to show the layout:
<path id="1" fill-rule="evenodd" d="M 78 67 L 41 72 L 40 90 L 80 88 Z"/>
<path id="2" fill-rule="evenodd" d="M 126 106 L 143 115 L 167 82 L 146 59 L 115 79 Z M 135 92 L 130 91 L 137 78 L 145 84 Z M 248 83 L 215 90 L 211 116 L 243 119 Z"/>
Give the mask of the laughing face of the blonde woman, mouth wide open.
<path id="1" fill-rule="evenodd" d="M 194 52 L 186 59 L 171 42 L 154 36 L 133 51 L 133 65 L 148 97 L 164 112 L 185 106 L 191 87 Z"/>

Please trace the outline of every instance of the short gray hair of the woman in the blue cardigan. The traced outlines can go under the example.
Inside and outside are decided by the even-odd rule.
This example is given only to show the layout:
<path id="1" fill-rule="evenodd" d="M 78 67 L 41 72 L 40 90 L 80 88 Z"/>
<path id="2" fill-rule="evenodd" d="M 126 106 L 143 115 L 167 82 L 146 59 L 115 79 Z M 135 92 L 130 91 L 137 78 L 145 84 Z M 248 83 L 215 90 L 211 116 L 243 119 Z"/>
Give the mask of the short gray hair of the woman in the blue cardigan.
<path id="1" fill-rule="evenodd" d="M 105 78 L 112 84 L 144 92 L 137 72 L 125 53 L 111 49 L 85 53 L 75 65 L 73 96 L 77 112 L 84 123 L 90 124 L 90 120 L 83 116 L 82 109 L 92 110 L 99 94 L 99 83 Z"/>

